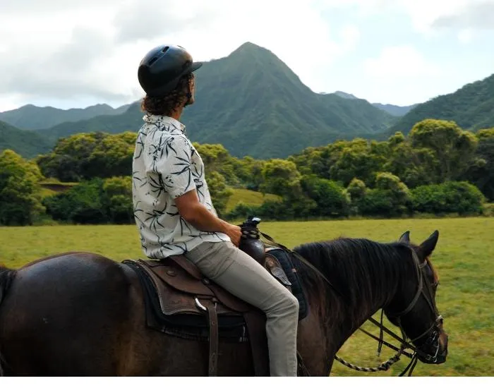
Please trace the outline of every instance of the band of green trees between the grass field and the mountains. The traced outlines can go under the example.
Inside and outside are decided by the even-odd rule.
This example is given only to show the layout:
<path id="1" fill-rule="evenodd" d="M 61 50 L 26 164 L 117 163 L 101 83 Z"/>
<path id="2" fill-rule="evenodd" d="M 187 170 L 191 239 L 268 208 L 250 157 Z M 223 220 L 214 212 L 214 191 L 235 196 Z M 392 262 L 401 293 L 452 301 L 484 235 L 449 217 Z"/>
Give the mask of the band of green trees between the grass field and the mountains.
<path id="1" fill-rule="evenodd" d="M 0 154 L 0 224 L 40 219 L 73 224 L 131 224 L 136 133 L 78 133 L 33 159 Z M 464 131 L 425 119 L 387 140 L 337 140 L 286 159 L 233 157 L 221 144 L 193 143 L 224 219 L 270 220 L 489 215 L 494 201 L 494 128 Z M 64 186 L 47 194 L 47 183 Z M 276 195 L 239 202 L 236 188 Z"/>

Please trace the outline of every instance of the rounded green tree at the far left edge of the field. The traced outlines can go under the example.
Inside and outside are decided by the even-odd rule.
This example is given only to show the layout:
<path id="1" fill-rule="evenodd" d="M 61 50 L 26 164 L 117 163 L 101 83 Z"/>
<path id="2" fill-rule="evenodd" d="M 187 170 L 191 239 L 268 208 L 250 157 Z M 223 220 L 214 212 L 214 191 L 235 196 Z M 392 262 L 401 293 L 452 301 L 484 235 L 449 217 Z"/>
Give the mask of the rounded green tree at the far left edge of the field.
<path id="1" fill-rule="evenodd" d="M 37 165 L 12 150 L 0 154 L 0 224 L 32 224 L 44 211 L 40 202 L 42 174 Z"/>

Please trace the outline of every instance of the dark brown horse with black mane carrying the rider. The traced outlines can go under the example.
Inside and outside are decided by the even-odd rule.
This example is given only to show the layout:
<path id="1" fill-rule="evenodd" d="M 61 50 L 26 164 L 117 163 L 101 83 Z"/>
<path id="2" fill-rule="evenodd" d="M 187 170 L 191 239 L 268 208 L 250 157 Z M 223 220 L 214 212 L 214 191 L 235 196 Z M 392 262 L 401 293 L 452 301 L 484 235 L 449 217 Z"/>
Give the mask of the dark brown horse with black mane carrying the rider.
<path id="1" fill-rule="evenodd" d="M 414 342 L 419 360 L 445 362 L 438 279 L 428 259 L 438 232 L 418 246 L 408 236 L 295 248 L 339 291 L 302 264 L 310 313 L 299 322 L 298 348 L 310 375 L 329 375 L 342 344 L 380 308 Z M 92 253 L 0 268 L 0 353 L 0 375 L 207 375 L 207 343 L 147 329 L 135 272 Z M 218 373 L 253 375 L 248 343 L 221 343 Z"/>

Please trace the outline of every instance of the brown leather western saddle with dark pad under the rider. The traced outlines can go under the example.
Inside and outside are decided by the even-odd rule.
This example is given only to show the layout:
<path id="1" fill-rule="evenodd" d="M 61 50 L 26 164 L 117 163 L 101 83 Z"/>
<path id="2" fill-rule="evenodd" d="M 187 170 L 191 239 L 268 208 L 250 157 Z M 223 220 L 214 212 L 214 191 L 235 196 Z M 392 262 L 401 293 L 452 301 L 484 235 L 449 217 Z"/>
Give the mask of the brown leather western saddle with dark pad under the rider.
<path id="1" fill-rule="evenodd" d="M 296 269 L 284 262 L 282 255 L 275 255 L 282 253 L 280 251 L 267 249 L 261 264 L 292 291 L 287 273 L 293 281 Z M 209 341 L 208 375 L 217 375 L 220 333 L 222 338 L 249 341 L 255 375 L 270 375 L 266 317 L 262 311 L 204 277 L 183 255 L 162 260 L 124 260 L 122 263 L 139 275 L 145 290 L 148 327 L 183 338 Z M 300 289 L 300 284 L 297 286 Z M 302 319 L 307 314 L 305 296 L 303 293 L 294 295 L 299 299 L 299 319 Z"/>

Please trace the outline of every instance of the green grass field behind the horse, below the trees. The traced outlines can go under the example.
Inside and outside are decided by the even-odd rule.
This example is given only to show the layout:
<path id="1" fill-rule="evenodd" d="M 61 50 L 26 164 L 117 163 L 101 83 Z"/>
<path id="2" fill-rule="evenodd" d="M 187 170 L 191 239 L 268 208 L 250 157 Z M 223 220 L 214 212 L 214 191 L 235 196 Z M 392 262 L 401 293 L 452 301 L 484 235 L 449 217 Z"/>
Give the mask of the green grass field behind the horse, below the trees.
<path id="1" fill-rule="evenodd" d="M 440 276 L 437 303 L 450 336 L 450 353 L 443 365 L 418 363 L 414 375 L 494 376 L 494 218 L 263 222 L 260 229 L 289 248 L 338 236 L 389 242 L 406 230 L 411 231 L 412 241 L 420 243 L 438 229 L 440 238 L 432 258 Z M 114 260 L 143 257 L 137 229 L 132 225 L 0 228 L 0 262 L 8 267 L 18 268 L 68 250 L 88 250 Z M 372 331 L 377 333 L 377 329 Z M 376 348 L 373 339 L 357 332 L 339 356 L 362 366 L 375 366 L 392 355 L 383 348 L 378 359 Z M 398 375 L 407 363 L 408 359 L 402 358 L 391 370 L 370 374 L 335 361 L 332 375 Z"/>

